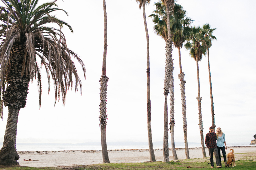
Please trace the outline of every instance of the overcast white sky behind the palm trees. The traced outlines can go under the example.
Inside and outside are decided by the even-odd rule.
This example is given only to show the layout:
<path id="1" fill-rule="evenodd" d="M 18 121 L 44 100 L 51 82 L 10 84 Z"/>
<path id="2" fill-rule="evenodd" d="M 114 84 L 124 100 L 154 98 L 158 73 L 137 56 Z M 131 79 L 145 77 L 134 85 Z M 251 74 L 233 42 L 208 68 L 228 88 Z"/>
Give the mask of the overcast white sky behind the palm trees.
<path id="1" fill-rule="evenodd" d="M 40 1 L 44 2 L 43 0 Z M 146 6 L 146 16 L 155 9 Z M 210 67 L 214 98 L 215 124 L 226 134 L 226 142 L 250 144 L 255 131 L 255 1 L 179 0 L 195 26 L 210 23 L 217 28 L 210 48 Z M 100 142 L 99 79 L 102 74 L 104 20 L 102 0 L 58 1 L 68 11 L 58 18 L 74 29 L 65 32 L 68 46 L 86 65 L 86 80 L 80 70 L 83 93 L 69 90 L 65 107 L 54 107 L 54 89 L 47 95 L 43 83 L 42 105 L 39 110 L 36 82 L 29 85 L 27 104 L 19 112 L 17 143 L 81 143 Z M 146 102 L 146 36 L 143 13 L 135 0 L 106 0 L 108 19 L 108 50 L 106 75 L 110 78 L 107 94 L 107 141 L 144 141 L 147 137 Z M 150 38 L 150 79 L 153 141 L 163 140 L 165 42 L 153 31 L 147 18 Z M 188 141 L 200 143 L 196 62 L 182 48 L 185 73 Z M 178 50 L 173 50 L 175 89 L 175 141 L 184 141 Z M 79 65 L 77 65 L 79 68 Z M 80 68 L 79 68 L 80 69 Z M 211 105 L 207 57 L 199 62 L 204 135 L 211 124 Z M 42 71 L 43 72 L 43 71 Z M 169 98 L 169 96 L 168 96 Z M 169 109 L 169 105 L 168 105 Z M 3 141 L 8 109 L 0 121 L 0 142 Z M 170 139 L 169 139 L 170 140 Z"/>

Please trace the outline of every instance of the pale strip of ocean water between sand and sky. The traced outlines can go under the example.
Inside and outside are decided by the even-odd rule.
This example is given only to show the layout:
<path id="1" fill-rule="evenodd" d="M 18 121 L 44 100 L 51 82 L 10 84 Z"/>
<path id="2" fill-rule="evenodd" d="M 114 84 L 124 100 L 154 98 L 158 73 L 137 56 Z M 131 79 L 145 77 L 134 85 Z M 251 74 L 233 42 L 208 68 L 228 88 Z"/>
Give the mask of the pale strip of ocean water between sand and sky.
<path id="1" fill-rule="evenodd" d="M 183 142 L 176 142 L 175 148 L 185 148 Z M 227 147 L 232 146 L 252 146 L 245 143 L 233 143 L 228 144 Z M 255 146 L 255 145 L 254 145 Z M 120 149 L 148 149 L 148 144 L 146 142 L 124 142 L 122 143 L 110 143 L 107 144 L 108 150 L 120 150 Z M 188 143 L 189 148 L 200 148 L 201 143 Z M 206 147 L 206 146 L 205 146 Z M 154 149 L 162 149 L 163 144 L 160 142 L 153 143 Z M 169 148 L 171 144 L 169 143 Z M 99 142 L 95 143 L 17 143 L 17 151 L 63 151 L 63 150 L 101 150 L 101 144 Z"/>

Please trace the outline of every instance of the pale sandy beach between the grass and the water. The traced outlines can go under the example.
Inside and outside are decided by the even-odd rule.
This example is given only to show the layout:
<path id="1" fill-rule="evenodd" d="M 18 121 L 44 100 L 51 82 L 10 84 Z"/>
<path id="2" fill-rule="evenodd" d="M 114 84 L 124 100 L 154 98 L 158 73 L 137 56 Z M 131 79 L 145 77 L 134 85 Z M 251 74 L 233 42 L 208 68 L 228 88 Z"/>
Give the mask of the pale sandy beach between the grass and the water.
<path id="1" fill-rule="evenodd" d="M 246 147 L 228 147 L 234 149 L 234 153 L 256 153 L 256 146 Z M 157 161 L 162 161 L 163 149 L 154 149 Z M 179 160 L 185 159 L 185 149 L 176 148 Z M 70 165 L 91 165 L 102 163 L 101 150 L 74 150 L 74 151 L 18 151 L 21 166 L 31 167 L 53 167 Z M 108 150 L 111 163 L 135 163 L 150 161 L 148 150 Z M 206 155 L 209 156 L 206 148 Z M 169 150 L 170 161 L 172 160 L 172 151 Z M 201 148 L 189 148 L 190 159 L 202 158 Z M 24 161 L 29 160 L 31 161 Z M 240 158 L 241 159 L 241 158 Z M 256 158 L 255 158 L 256 159 Z M 254 160 L 256 161 L 256 160 Z"/>

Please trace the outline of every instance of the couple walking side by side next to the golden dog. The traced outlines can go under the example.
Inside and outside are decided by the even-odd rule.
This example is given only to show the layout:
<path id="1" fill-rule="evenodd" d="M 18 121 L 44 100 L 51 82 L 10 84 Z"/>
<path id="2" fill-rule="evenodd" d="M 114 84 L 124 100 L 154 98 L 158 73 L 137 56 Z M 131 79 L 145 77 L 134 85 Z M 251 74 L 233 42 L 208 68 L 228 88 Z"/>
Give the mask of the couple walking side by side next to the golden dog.
<path id="1" fill-rule="evenodd" d="M 213 154 L 216 159 L 216 167 L 221 168 L 221 158 L 220 158 L 220 150 L 223 154 L 225 165 L 227 164 L 226 152 L 227 149 L 226 141 L 225 141 L 225 133 L 221 131 L 221 128 L 217 128 L 217 134 L 213 131 L 213 127 L 210 127 L 209 133 L 205 136 L 205 144 L 209 150 L 211 168 L 214 167 L 213 163 Z M 217 140 L 217 143 L 216 143 Z M 224 145 L 225 144 L 225 145 Z"/>

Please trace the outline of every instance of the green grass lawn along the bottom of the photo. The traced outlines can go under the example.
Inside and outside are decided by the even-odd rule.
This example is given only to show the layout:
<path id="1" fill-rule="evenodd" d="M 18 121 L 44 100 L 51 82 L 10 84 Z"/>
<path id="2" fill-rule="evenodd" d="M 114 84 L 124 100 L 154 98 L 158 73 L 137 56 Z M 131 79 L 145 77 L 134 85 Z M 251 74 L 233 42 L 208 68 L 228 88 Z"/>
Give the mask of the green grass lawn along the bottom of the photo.
<path id="1" fill-rule="evenodd" d="M 229 169 L 256 169 L 256 162 L 252 160 L 238 160 L 236 161 L 236 167 L 230 167 Z M 91 170 L 91 169 L 189 169 L 190 166 L 194 169 L 212 169 L 210 168 L 209 161 L 201 162 L 200 159 L 191 161 L 179 161 L 179 162 L 146 162 L 146 163 L 102 163 L 95 165 L 79 165 L 79 166 L 65 166 L 65 167 L 43 167 L 43 168 L 35 168 L 35 167 L 2 167 L 1 170 L 11 170 L 11 169 L 22 169 L 22 170 L 39 170 L 39 169 L 72 169 L 72 170 Z M 216 168 L 216 165 L 215 165 Z M 225 168 L 225 167 L 223 167 Z"/>

